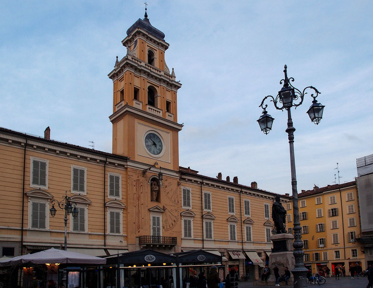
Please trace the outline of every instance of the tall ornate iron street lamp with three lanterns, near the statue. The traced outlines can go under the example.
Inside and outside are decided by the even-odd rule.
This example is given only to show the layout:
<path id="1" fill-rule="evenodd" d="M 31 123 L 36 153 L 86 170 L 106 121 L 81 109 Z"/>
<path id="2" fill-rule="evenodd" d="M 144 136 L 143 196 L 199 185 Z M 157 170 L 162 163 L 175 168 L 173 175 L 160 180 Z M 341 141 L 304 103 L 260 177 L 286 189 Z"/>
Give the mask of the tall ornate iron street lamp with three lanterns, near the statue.
<path id="1" fill-rule="evenodd" d="M 259 107 L 263 109 L 263 113 L 260 118 L 257 120 L 260 126 L 260 130 L 264 132 L 264 134 L 268 134 L 269 131 L 272 129 L 272 123 L 274 118 L 272 118 L 269 114 L 267 114 L 266 108 L 268 105 L 263 106 L 264 101 L 267 98 L 270 98 L 270 101 L 273 102 L 275 108 L 277 110 L 287 110 L 288 111 L 288 128 L 285 130 L 288 133 L 289 139 L 289 146 L 290 146 L 290 166 L 291 166 L 291 186 L 292 186 L 292 196 L 293 196 L 293 211 L 294 211 L 294 258 L 295 258 L 295 267 L 291 272 L 294 275 L 294 287 L 301 288 L 307 287 L 307 272 L 308 269 L 304 267 L 303 263 L 303 256 L 304 252 L 303 248 L 303 241 L 301 240 L 301 226 L 299 222 L 299 208 L 298 208 L 298 192 L 297 192 L 297 176 L 295 173 L 295 158 L 294 158 L 294 131 L 295 128 L 293 127 L 293 121 L 291 119 L 291 107 L 298 107 L 303 103 L 304 95 L 307 94 L 305 92 L 307 89 L 313 90 L 313 94 L 311 97 L 313 98 L 312 105 L 308 109 L 307 113 L 310 116 L 310 119 L 313 123 L 319 124 L 320 120 L 323 115 L 324 107 L 320 103 L 317 103 L 316 97 L 321 94 L 317 91 L 316 88 L 313 86 L 308 86 L 303 89 L 303 91 L 294 88 L 291 85 L 290 81 L 294 82 L 294 78 L 288 78 L 287 74 L 287 66 L 285 65 L 285 69 L 283 72 L 285 73 L 285 79 L 280 81 L 280 84 L 283 83 L 283 87 L 278 92 L 276 98 L 272 95 L 268 95 L 264 97 L 263 101 Z M 314 96 L 315 95 L 315 96 Z M 299 101 L 294 103 L 294 101 Z"/>

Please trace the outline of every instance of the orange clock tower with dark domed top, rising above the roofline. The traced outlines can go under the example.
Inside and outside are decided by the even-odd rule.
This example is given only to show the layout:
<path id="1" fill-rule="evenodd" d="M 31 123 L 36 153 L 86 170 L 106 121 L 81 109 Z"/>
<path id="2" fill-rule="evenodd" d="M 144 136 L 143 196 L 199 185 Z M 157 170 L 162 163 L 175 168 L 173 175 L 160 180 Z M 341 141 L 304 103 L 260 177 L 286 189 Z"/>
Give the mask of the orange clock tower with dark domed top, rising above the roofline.
<path id="1" fill-rule="evenodd" d="M 181 87 L 164 60 L 169 44 L 145 13 L 122 41 L 126 56 L 116 60 L 113 80 L 113 154 L 179 170 L 177 91 Z"/>

